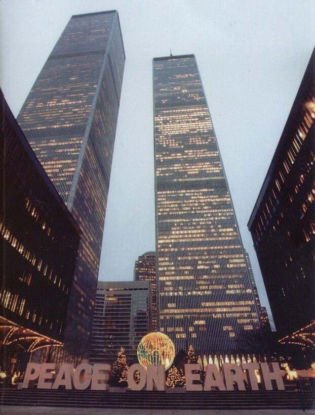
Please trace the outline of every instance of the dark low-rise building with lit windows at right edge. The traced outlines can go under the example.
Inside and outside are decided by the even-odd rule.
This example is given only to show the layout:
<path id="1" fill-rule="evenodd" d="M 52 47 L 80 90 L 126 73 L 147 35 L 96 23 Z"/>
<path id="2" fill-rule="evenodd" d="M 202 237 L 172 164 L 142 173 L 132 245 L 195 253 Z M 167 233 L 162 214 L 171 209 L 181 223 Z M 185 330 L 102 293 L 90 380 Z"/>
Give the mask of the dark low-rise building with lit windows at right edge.
<path id="1" fill-rule="evenodd" d="M 275 328 L 305 347 L 315 340 L 314 65 L 313 52 L 248 222 Z"/>

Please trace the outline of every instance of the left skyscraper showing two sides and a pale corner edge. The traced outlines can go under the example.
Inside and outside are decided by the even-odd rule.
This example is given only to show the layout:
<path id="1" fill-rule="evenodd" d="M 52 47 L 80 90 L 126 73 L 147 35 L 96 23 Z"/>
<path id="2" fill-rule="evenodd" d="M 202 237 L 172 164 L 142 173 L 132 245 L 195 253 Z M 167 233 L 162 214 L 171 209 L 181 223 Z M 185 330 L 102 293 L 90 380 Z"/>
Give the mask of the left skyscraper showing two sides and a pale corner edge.
<path id="1" fill-rule="evenodd" d="M 79 357 L 93 318 L 124 62 L 116 11 L 72 16 L 18 116 L 82 229 L 65 333 Z"/>

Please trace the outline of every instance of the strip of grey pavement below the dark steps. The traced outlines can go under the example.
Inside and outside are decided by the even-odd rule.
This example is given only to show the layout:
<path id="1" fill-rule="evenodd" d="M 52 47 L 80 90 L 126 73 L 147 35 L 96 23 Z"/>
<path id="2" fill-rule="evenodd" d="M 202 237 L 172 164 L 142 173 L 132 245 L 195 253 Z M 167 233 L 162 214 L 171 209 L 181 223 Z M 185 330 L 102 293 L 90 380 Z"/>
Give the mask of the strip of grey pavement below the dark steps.
<path id="1" fill-rule="evenodd" d="M 0 415 L 315 415 L 315 409 L 253 409 L 253 410 L 167 410 L 167 409 L 97 409 L 55 408 L 48 406 L 1 406 Z"/>

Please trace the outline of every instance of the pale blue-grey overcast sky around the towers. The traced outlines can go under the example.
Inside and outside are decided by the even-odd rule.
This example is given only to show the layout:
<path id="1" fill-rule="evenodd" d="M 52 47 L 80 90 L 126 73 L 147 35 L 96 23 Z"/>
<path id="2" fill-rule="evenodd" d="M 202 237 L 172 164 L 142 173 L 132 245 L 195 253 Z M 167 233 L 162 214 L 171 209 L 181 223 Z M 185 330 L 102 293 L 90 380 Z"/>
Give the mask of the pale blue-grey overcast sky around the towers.
<path id="1" fill-rule="evenodd" d="M 155 250 L 152 58 L 194 54 L 245 249 L 247 222 L 315 44 L 308 0 L 0 0 L 0 86 L 17 116 L 71 15 L 117 10 L 126 64 L 99 280 Z"/>

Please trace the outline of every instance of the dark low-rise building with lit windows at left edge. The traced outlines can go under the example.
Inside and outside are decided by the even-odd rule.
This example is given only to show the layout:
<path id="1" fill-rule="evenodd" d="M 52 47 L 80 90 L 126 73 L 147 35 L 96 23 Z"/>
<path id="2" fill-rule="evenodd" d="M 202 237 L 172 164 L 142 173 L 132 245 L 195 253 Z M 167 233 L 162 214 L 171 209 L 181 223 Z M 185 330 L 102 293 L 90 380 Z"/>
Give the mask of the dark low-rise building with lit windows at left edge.
<path id="1" fill-rule="evenodd" d="M 80 229 L 0 99 L 0 364 L 10 371 L 19 353 L 63 343 Z"/>

